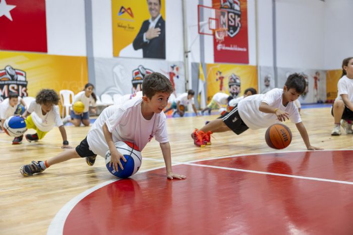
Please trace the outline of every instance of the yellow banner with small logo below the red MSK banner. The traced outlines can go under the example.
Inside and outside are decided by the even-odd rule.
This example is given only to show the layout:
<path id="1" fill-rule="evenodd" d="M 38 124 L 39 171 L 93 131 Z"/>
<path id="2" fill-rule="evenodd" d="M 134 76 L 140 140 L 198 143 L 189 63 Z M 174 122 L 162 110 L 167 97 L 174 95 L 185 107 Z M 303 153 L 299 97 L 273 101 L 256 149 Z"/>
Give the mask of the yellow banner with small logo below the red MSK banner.
<path id="1" fill-rule="evenodd" d="M 207 102 L 217 92 L 239 93 L 242 96 L 248 88 L 257 87 L 257 68 L 252 65 L 207 64 Z M 240 83 L 240 89 L 239 89 Z"/>

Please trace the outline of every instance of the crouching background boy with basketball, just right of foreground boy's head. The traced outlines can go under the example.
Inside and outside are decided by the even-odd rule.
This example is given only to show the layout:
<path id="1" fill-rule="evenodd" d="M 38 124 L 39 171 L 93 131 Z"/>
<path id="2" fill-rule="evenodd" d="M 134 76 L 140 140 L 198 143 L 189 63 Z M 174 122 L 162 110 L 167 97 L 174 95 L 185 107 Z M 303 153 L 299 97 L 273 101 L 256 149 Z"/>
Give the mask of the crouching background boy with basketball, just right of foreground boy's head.
<path id="1" fill-rule="evenodd" d="M 185 109 L 188 107 L 189 104 L 192 104 L 193 110 L 196 116 L 198 116 L 197 109 L 195 107 L 194 96 L 195 92 L 193 90 L 189 90 L 188 92 L 181 94 L 177 97 L 177 99 L 175 99 L 175 101 L 173 101 L 171 106 L 164 111 L 164 113 L 167 113 L 169 110 L 174 109 L 172 116 L 178 113 L 179 116 L 183 117 L 186 111 Z"/>

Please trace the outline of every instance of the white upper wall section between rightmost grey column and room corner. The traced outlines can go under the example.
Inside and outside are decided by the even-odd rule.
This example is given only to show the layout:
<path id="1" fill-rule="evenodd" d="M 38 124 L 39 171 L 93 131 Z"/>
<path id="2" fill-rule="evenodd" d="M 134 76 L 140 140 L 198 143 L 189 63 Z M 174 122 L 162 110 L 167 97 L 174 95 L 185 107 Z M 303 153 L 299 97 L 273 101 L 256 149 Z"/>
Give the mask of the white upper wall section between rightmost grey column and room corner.
<path id="1" fill-rule="evenodd" d="M 324 13 L 319 0 L 276 1 L 278 67 L 324 67 Z"/>

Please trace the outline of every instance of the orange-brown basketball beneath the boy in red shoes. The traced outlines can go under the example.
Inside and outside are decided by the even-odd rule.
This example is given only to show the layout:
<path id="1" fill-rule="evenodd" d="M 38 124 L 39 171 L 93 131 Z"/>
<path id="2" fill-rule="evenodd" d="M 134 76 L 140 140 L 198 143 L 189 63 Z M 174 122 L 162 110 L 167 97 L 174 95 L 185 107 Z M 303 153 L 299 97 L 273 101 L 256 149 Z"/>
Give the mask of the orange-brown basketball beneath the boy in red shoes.
<path id="1" fill-rule="evenodd" d="M 271 148 L 285 148 L 290 144 L 291 131 L 286 125 L 280 123 L 273 124 L 267 129 L 265 140 Z"/>

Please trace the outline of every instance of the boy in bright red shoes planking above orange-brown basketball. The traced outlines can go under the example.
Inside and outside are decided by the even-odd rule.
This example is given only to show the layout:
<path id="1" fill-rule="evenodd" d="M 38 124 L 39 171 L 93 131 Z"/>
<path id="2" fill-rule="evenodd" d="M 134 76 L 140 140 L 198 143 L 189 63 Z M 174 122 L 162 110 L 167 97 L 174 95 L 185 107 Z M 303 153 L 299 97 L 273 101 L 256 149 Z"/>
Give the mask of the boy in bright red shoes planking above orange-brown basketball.
<path id="1" fill-rule="evenodd" d="M 266 94 L 248 96 L 238 103 L 228 115 L 222 119 L 209 122 L 200 130 L 195 129 L 192 138 L 197 146 L 211 144 L 210 134 L 232 130 L 241 134 L 247 129 L 260 129 L 285 119 L 296 124 L 304 143 L 309 150 L 321 149 L 310 144 L 307 130 L 301 120 L 298 108 L 293 104 L 305 91 L 304 76 L 293 73 L 288 76 L 283 89 L 272 89 Z"/>

